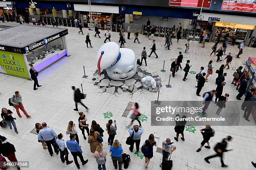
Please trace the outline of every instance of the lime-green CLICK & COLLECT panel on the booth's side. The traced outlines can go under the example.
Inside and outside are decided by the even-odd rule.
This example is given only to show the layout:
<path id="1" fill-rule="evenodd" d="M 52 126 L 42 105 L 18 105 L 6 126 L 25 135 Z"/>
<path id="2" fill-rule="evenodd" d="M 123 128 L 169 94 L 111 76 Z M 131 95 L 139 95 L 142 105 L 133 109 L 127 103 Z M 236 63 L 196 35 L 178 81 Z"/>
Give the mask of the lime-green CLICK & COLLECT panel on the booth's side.
<path id="1" fill-rule="evenodd" d="M 0 50 L 0 72 L 30 78 L 23 55 L 14 52 Z"/>

